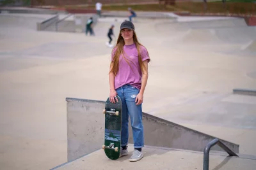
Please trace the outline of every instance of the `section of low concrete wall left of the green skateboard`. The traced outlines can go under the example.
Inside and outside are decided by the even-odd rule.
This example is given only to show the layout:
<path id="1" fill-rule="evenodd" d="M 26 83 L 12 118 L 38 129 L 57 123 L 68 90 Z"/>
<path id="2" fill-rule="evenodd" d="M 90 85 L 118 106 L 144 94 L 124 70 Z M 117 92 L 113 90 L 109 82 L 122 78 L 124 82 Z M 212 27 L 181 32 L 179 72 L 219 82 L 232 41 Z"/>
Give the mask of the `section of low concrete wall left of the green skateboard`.
<path id="1" fill-rule="evenodd" d="M 99 150 L 104 145 L 104 102 L 67 101 L 68 161 Z"/>

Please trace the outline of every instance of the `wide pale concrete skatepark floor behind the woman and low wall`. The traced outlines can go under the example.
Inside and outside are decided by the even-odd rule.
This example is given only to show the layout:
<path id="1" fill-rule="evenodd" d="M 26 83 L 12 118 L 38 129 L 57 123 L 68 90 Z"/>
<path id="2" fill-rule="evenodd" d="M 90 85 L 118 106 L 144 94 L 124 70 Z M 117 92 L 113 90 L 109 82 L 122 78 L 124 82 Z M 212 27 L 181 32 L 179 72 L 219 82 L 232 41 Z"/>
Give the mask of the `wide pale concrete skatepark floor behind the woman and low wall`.
<path id="1" fill-rule="evenodd" d="M 106 34 L 114 22 L 117 36 L 125 18 L 100 18 L 90 37 L 35 31 L 47 17 L 0 14 L 3 169 L 51 169 L 67 162 L 65 97 L 104 101 L 109 95 Z M 255 27 L 240 18 L 136 18 L 134 24 L 152 59 L 143 111 L 256 155 L 255 96 L 232 94 L 234 88 L 256 87 Z"/>

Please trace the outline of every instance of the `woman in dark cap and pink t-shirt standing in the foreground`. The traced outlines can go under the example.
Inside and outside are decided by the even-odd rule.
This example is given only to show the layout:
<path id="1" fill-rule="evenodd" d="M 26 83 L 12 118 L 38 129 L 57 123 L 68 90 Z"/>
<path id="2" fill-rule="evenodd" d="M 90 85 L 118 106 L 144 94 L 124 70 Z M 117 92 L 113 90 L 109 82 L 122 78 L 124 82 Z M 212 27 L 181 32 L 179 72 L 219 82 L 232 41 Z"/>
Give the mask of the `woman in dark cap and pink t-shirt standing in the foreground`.
<path id="1" fill-rule="evenodd" d="M 122 100 L 122 132 L 120 157 L 128 155 L 128 122 L 131 118 L 134 152 L 131 162 L 143 158 L 141 148 L 144 146 L 142 108 L 143 94 L 148 80 L 147 49 L 138 42 L 134 25 L 125 21 L 120 26 L 120 33 L 115 48 L 112 50 L 109 70 L 109 99 Z"/>

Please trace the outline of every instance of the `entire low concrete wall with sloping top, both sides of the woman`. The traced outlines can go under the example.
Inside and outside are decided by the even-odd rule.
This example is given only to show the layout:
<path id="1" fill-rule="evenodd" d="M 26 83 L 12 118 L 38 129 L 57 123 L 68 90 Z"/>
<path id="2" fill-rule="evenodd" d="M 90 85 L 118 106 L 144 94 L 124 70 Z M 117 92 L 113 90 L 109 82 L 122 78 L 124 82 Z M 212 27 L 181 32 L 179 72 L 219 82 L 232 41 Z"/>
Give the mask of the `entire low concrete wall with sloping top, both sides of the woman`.
<path id="1" fill-rule="evenodd" d="M 67 98 L 68 161 L 92 153 L 104 143 L 104 101 Z M 215 137 L 203 134 L 161 118 L 143 113 L 145 145 L 204 151 L 205 145 Z M 129 143 L 132 141 L 129 125 Z M 239 153 L 239 145 L 223 141 Z M 212 150 L 223 151 L 219 146 Z"/>

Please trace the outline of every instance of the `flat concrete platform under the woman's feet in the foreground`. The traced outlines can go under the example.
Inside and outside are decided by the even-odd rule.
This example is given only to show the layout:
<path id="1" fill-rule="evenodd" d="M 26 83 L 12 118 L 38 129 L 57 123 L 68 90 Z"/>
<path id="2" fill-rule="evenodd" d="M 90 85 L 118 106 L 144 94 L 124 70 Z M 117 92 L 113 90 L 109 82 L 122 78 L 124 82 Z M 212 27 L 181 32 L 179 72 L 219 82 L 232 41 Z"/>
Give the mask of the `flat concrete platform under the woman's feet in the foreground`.
<path id="1" fill-rule="evenodd" d="M 104 151 L 97 150 L 62 166 L 54 169 L 58 170 L 84 170 L 84 169 L 104 169 L 104 170 L 120 170 L 120 169 L 175 169 L 175 170 L 191 170 L 203 169 L 202 152 L 191 152 L 188 150 L 175 150 L 172 148 L 157 148 L 145 146 L 142 150 L 144 157 L 138 162 L 129 162 L 132 155 L 132 145 L 128 146 L 129 155 L 121 157 L 118 160 L 110 160 L 106 157 Z M 256 157 L 239 155 L 239 157 L 227 157 L 224 152 L 211 152 L 209 169 L 218 170 L 252 170 L 256 166 Z"/>

